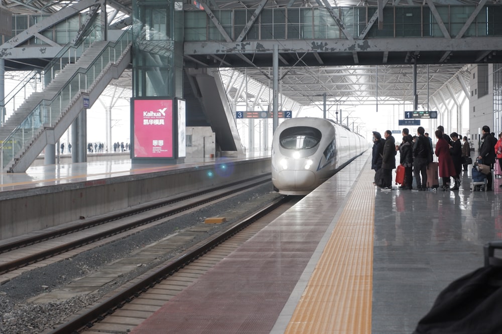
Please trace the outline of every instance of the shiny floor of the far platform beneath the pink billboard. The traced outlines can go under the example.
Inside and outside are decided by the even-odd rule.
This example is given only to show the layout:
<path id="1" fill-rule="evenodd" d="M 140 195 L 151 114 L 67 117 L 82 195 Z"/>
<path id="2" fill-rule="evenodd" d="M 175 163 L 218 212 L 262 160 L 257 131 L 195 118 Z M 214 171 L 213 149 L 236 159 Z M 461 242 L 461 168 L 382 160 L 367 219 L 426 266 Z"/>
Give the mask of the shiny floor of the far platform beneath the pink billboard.
<path id="1" fill-rule="evenodd" d="M 269 156 L 270 152 L 250 152 L 243 158 L 193 158 L 186 159 L 184 163 L 180 164 L 133 164 L 131 159 L 123 159 L 40 165 L 28 168 L 25 173 L 0 173 L 0 192 L 157 171 L 178 170 L 195 166 L 212 165 L 215 162 L 243 161 Z"/>

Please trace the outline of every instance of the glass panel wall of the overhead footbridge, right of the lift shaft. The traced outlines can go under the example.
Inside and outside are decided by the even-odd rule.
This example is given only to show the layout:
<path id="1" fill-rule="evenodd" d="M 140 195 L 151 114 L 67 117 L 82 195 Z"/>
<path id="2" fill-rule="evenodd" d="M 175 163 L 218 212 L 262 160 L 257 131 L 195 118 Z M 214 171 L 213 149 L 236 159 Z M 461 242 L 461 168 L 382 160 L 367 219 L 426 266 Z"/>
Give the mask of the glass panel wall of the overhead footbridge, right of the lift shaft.
<path id="1" fill-rule="evenodd" d="M 333 8 L 345 30 L 357 38 L 378 10 L 376 7 Z M 474 12 L 475 6 L 436 6 L 446 31 L 455 37 Z M 232 40 L 245 28 L 251 10 L 216 10 L 213 12 Z M 463 37 L 502 36 L 502 6 L 486 6 Z M 220 32 L 205 12 L 185 13 L 185 41 L 222 41 Z M 204 26 L 204 24 L 207 25 Z M 203 36 L 206 36 L 203 38 Z M 388 6 L 384 9 L 383 29 L 375 22 L 367 38 L 443 38 L 440 25 L 427 6 Z M 249 29 L 247 40 L 345 39 L 341 29 L 325 8 L 265 9 Z"/>

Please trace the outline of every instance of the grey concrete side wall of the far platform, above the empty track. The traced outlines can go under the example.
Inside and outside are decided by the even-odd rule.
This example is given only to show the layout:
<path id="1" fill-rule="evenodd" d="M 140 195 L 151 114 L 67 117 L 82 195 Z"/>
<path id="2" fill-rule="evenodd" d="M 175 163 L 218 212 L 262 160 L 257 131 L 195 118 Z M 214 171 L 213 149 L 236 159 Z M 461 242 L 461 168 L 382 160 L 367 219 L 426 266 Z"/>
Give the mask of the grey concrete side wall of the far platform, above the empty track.
<path id="1" fill-rule="evenodd" d="M 225 168 L 223 168 L 225 167 Z M 270 158 L 0 193 L 0 239 L 270 173 Z"/>

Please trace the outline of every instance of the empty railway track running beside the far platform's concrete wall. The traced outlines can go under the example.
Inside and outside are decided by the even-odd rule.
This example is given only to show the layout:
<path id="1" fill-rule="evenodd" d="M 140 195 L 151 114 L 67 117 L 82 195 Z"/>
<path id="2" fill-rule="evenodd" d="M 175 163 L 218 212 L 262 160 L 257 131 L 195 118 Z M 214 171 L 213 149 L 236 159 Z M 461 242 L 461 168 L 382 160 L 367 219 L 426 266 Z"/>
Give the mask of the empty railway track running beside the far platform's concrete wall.
<path id="1" fill-rule="evenodd" d="M 111 213 L 0 245 L 0 275 L 270 182 L 270 174 Z M 72 256 L 72 255 L 70 255 Z M 47 262 L 47 263 L 50 263 Z M 12 277 L 10 277 L 12 278 Z M 5 283 L 8 279 L 1 281 Z"/>

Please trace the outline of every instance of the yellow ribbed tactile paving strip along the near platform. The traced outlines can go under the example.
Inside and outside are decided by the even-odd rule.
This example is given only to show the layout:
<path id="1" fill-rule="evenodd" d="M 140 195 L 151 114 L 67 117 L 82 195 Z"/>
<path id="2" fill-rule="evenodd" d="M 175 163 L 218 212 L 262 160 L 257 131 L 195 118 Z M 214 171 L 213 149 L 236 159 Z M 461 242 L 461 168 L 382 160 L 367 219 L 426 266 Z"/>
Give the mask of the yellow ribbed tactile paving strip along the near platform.
<path id="1" fill-rule="evenodd" d="M 371 333 L 372 181 L 364 168 L 285 333 Z"/>

